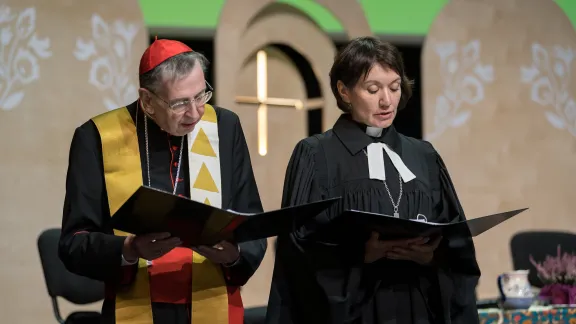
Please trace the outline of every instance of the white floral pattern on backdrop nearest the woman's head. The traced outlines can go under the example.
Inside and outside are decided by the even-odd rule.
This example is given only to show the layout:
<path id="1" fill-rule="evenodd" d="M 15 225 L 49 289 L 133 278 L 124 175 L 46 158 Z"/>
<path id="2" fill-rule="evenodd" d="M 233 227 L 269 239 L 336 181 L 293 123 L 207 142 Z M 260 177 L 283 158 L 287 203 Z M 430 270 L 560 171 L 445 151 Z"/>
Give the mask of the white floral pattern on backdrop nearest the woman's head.
<path id="1" fill-rule="evenodd" d="M 466 123 L 472 114 L 470 106 L 484 100 L 484 85 L 494 81 L 493 67 L 480 62 L 480 40 L 462 47 L 455 41 L 438 43 L 435 50 L 443 91 L 436 97 L 434 129 L 426 134 L 427 140 Z"/>

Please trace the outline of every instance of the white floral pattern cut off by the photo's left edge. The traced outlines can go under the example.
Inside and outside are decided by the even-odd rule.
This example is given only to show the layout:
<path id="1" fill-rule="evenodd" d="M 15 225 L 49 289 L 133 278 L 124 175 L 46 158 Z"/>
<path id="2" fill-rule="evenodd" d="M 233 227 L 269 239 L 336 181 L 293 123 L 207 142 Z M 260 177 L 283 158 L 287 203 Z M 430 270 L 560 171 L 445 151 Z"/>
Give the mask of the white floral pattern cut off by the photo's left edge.
<path id="1" fill-rule="evenodd" d="M 36 8 L 13 13 L 0 5 L 0 109 L 22 103 L 25 86 L 40 78 L 38 58 L 52 56 L 50 40 L 36 34 Z"/>

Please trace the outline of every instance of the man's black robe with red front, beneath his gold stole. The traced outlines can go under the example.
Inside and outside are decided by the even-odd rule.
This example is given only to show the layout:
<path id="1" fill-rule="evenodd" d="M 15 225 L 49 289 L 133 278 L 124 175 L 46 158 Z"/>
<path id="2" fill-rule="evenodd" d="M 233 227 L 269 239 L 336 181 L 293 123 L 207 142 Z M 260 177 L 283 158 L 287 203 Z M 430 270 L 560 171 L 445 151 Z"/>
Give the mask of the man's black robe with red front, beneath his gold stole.
<path id="1" fill-rule="evenodd" d="M 143 183 L 148 184 L 145 153 L 148 145 L 150 185 L 173 192 L 177 184 L 176 194 L 190 197 L 186 137 L 183 139 L 171 136 L 148 119 L 148 144 L 146 144 L 142 111 L 136 103 L 126 108 L 130 114 L 127 118 L 131 118 L 131 122 L 135 124 Z M 218 125 L 222 208 L 246 213 L 261 212 L 262 205 L 240 120 L 236 114 L 223 108 L 214 107 L 211 111 L 215 112 Z M 148 273 L 145 270 L 144 275 L 138 272 L 138 264 L 125 265 L 122 262 L 125 237 L 114 235 L 109 223 L 111 213 L 106 190 L 102 143 L 99 129 L 93 120 L 78 127 L 74 133 L 66 179 L 60 258 L 70 271 L 105 282 L 106 298 L 102 309 L 102 323 L 120 322 L 115 318 L 117 294 L 135 285 L 138 280 L 149 280 L 148 305 L 151 306 L 154 323 L 190 323 L 193 304 L 191 304 L 192 273 L 195 270 L 202 271 L 201 268 L 192 267 L 192 255 L 195 252 L 184 247 L 175 248 L 160 258 L 162 262 L 157 259 L 145 263 Z M 184 147 L 181 151 L 182 144 Z M 182 165 L 180 174 L 176 177 L 180 152 L 182 152 L 180 161 Z M 224 294 L 228 294 L 228 318 L 214 320 L 212 323 L 243 323 L 239 287 L 244 285 L 256 271 L 265 251 L 266 240 L 242 243 L 238 262 L 230 267 L 222 266 L 221 273 L 225 277 L 223 281 L 227 290 Z M 142 261 L 146 262 L 140 260 L 140 263 Z M 197 289 L 194 288 L 194 294 L 202 293 L 197 292 Z M 129 298 L 128 303 L 132 302 Z M 143 323 L 139 320 L 141 319 L 133 318 L 121 322 Z"/>

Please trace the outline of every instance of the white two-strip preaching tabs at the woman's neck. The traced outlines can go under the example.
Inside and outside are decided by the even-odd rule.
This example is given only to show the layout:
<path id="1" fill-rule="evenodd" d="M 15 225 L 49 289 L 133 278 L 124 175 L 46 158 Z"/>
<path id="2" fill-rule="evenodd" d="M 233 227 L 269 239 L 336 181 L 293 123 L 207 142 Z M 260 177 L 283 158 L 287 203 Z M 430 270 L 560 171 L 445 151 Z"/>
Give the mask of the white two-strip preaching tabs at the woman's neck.
<path id="1" fill-rule="evenodd" d="M 416 176 L 412 171 L 410 171 L 410 169 L 408 169 L 406 164 L 404 164 L 402 158 L 400 158 L 396 152 L 392 151 L 392 149 L 384 143 L 372 143 L 367 147 L 366 155 L 368 156 L 368 171 L 370 173 L 370 179 L 386 180 L 384 154 L 382 154 L 382 150 L 386 152 L 390 161 L 392 161 L 392 164 L 396 170 L 398 170 L 400 177 L 402 177 L 402 181 L 409 182 L 416 179 Z"/>

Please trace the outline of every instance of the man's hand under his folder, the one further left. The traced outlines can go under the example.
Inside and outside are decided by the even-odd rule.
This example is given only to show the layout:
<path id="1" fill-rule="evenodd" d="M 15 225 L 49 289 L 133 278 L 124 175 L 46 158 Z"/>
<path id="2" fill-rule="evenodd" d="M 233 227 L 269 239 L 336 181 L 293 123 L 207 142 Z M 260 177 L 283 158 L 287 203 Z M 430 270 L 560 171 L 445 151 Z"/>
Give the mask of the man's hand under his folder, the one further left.
<path id="1" fill-rule="evenodd" d="M 124 259 L 135 262 L 138 258 L 154 260 L 182 244 L 179 238 L 170 233 L 153 233 L 141 236 L 130 235 L 124 240 Z"/>

